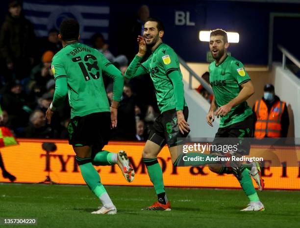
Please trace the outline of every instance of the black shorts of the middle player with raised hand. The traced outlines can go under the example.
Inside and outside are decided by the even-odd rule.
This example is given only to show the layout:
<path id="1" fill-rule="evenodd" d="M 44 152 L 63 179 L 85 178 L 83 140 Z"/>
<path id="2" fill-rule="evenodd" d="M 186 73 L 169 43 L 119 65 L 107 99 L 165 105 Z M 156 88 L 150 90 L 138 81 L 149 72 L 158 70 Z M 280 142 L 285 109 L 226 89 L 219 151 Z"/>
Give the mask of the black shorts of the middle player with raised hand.
<path id="1" fill-rule="evenodd" d="M 189 116 L 188 107 L 183 108 L 183 115 L 184 119 L 187 121 Z M 161 147 L 166 143 L 169 147 L 173 147 L 177 144 L 180 144 L 179 142 L 177 142 L 177 138 L 187 137 L 188 134 L 189 133 L 186 132 L 184 134 L 181 134 L 177 124 L 176 110 L 171 109 L 163 112 L 156 118 L 148 140 L 160 145 Z"/>

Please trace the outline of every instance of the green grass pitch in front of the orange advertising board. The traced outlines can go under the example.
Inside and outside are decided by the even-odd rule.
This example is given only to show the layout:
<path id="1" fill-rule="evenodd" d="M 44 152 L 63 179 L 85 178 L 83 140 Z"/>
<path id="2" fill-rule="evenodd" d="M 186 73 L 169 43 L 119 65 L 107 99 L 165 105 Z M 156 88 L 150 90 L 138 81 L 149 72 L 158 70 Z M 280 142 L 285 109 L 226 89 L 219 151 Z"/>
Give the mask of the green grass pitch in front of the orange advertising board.
<path id="1" fill-rule="evenodd" d="M 242 190 L 167 188 L 172 211 L 141 211 L 151 187 L 106 186 L 117 215 L 94 215 L 100 201 L 87 186 L 0 184 L 0 217 L 36 218 L 35 227 L 299 227 L 300 191 L 258 193 L 266 210 L 241 212 Z M 15 226 L 20 227 L 21 225 Z M 10 226 L 12 227 L 12 226 Z"/>

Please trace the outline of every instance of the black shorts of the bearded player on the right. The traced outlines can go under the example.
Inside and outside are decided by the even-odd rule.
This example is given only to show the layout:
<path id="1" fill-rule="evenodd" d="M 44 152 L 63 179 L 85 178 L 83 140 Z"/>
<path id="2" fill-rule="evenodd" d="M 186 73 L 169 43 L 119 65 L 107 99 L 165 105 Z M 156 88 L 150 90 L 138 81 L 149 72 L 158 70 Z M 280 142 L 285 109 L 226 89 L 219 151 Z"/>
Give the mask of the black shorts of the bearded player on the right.
<path id="1" fill-rule="evenodd" d="M 219 128 L 215 135 L 213 145 L 237 145 L 238 154 L 249 155 L 250 140 L 247 138 L 253 137 L 253 115 L 250 115 L 245 120 L 231 124 L 227 127 Z M 232 139 L 224 139 L 232 138 Z M 216 153 L 216 151 L 211 151 Z M 217 153 L 220 153 L 218 151 Z"/>

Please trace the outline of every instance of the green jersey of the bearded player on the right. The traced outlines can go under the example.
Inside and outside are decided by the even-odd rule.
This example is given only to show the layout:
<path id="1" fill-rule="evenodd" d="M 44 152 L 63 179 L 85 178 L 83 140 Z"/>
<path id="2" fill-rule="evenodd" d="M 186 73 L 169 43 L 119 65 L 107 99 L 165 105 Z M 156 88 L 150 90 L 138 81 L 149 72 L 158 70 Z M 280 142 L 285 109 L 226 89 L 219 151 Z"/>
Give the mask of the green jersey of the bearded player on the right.
<path id="1" fill-rule="evenodd" d="M 227 55 L 225 60 L 218 66 L 216 66 L 216 62 L 209 65 L 209 81 L 218 107 L 226 105 L 235 98 L 242 89 L 241 85 L 250 80 L 243 64 L 231 56 Z M 251 108 L 244 101 L 220 118 L 220 127 L 227 127 L 241 122 L 251 114 Z"/>

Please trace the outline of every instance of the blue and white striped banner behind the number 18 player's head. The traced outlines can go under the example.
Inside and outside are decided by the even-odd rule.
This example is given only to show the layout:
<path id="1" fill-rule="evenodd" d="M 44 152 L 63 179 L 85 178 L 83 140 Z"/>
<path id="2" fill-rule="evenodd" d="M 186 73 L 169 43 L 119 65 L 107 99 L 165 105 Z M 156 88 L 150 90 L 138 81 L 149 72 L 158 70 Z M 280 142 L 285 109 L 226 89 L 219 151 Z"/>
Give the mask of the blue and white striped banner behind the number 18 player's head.
<path id="1" fill-rule="evenodd" d="M 37 36 L 48 36 L 52 28 L 59 30 L 65 18 L 74 18 L 80 24 L 80 37 L 87 42 L 96 33 L 102 33 L 108 39 L 110 7 L 101 4 L 53 3 L 24 1 L 25 17 L 34 25 Z"/>

